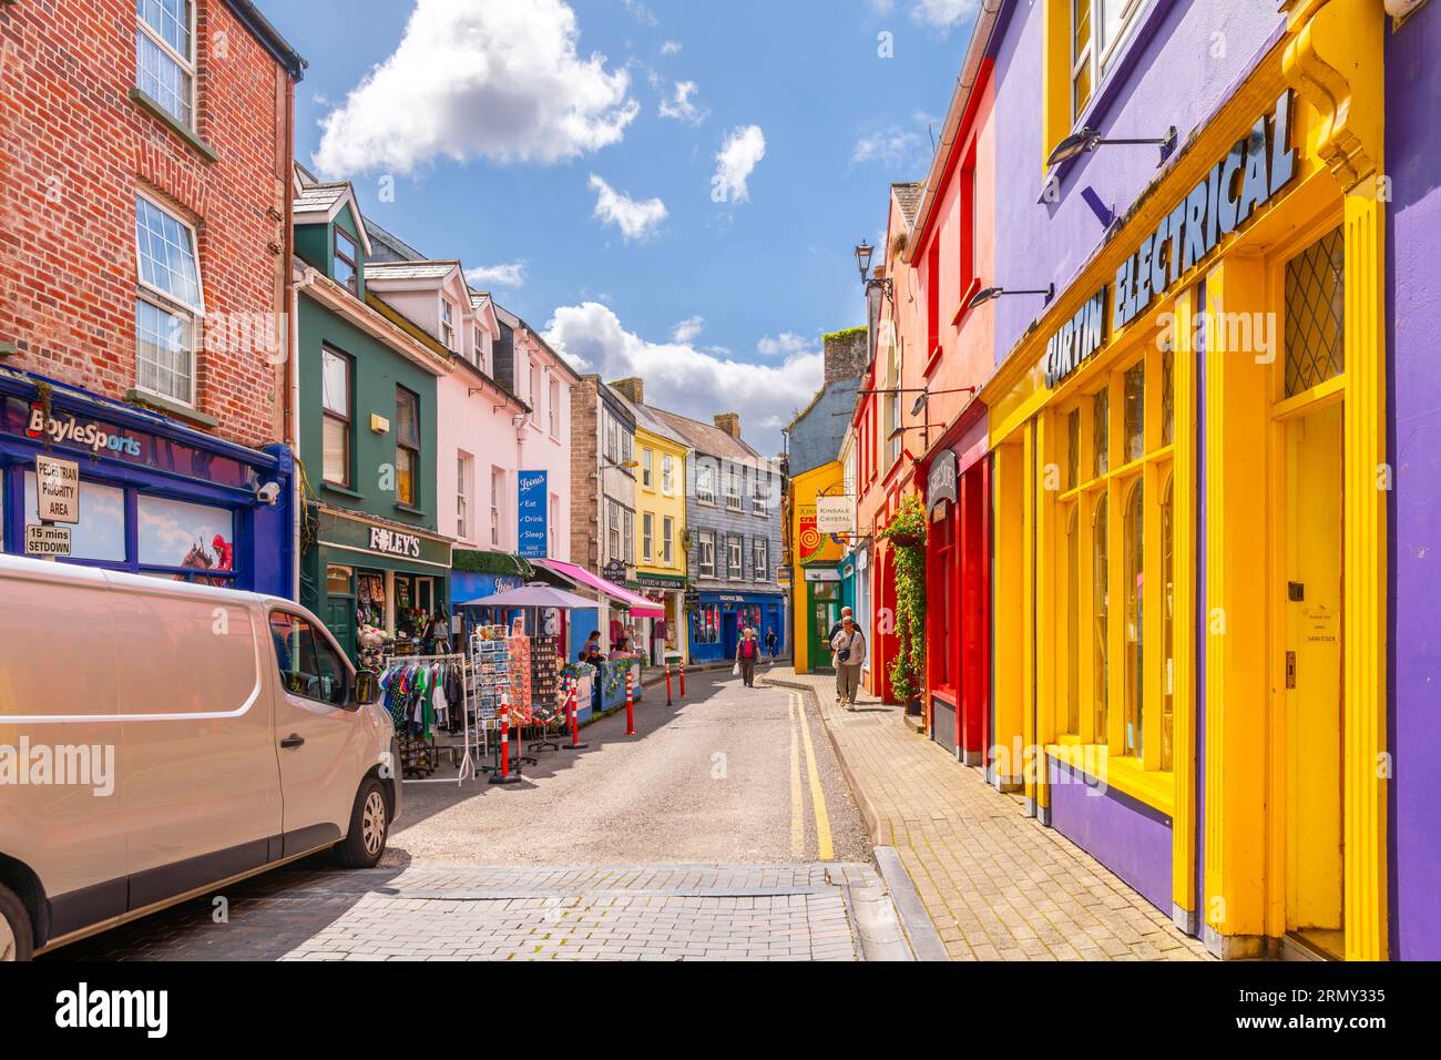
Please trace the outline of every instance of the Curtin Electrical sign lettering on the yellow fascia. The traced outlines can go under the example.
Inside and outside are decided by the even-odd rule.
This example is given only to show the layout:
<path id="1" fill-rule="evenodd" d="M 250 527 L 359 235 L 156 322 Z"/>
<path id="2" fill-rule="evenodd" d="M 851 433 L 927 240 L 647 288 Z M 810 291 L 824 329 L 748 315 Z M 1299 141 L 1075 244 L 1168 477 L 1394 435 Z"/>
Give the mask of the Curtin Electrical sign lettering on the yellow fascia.
<path id="1" fill-rule="evenodd" d="M 1050 336 L 1040 361 L 1046 387 L 1069 376 L 1105 345 L 1107 322 L 1114 333 L 1141 316 L 1222 238 L 1241 228 L 1290 183 L 1295 176 L 1291 110 L 1291 91 L 1287 89 L 1271 112 L 1257 118 L 1251 131 L 1231 146 L 1226 157 L 1212 166 L 1120 264 L 1111 284 L 1110 316 L 1105 312 L 1107 287 L 1102 287 Z"/>

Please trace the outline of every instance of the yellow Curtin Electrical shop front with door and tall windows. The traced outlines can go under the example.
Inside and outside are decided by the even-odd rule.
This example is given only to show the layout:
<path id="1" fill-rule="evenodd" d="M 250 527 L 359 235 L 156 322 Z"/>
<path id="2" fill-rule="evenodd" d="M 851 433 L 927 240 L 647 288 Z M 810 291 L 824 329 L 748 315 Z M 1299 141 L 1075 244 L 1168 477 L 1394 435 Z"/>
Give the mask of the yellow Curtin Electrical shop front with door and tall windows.
<path id="1" fill-rule="evenodd" d="M 981 392 L 994 743 L 1212 952 L 1379 959 L 1382 16 L 1306 19 Z"/>

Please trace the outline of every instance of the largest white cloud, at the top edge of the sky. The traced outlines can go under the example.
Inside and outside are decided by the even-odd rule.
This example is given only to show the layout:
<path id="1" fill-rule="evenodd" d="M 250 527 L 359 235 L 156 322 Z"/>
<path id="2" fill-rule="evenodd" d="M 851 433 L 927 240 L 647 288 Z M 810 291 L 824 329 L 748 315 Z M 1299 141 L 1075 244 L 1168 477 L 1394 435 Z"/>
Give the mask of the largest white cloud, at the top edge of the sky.
<path id="1" fill-rule="evenodd" d="M 437 157 L 553 164 L 618 143 L 630 75 L 581 58 L 562 0 L 418 0 L 395 53 L 323 121 L 327 175 L 409 173 Z"/>

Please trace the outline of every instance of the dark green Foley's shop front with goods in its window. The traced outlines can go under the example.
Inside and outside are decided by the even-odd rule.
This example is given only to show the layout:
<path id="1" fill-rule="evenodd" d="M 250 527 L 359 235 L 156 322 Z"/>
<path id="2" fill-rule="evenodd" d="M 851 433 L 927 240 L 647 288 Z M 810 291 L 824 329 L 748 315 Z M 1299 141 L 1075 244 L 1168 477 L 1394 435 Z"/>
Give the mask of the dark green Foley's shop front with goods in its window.
<path id="1" fill-rule="evenodd" d="M 301 603 L 357 665 L 440 650 L 429 642 L 441 632 L 455 639 L 450 538 L 326 505 L 314 509 L 314 521 Z"/>

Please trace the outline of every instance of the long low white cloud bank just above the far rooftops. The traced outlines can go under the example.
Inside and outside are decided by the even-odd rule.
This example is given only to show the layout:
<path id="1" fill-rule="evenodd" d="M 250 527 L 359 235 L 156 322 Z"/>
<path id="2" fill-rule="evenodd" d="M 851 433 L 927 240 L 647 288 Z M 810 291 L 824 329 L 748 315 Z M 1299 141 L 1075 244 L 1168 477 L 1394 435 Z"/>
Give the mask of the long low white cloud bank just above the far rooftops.
<path id="1" fill-rule="evenodd" d="M 810 402 L 824 376 L 818 346 L 778 365 L 748 363 L 689 343 L 643 339 L 594 301 L 558 309 L 545 339 L 578 369 L 602 379 L 641 376 L 647 404 L 702 423 L 716 412 L 739 412 L 746 441 L 767 454 L 780 451 L 781 427 Z"/>

